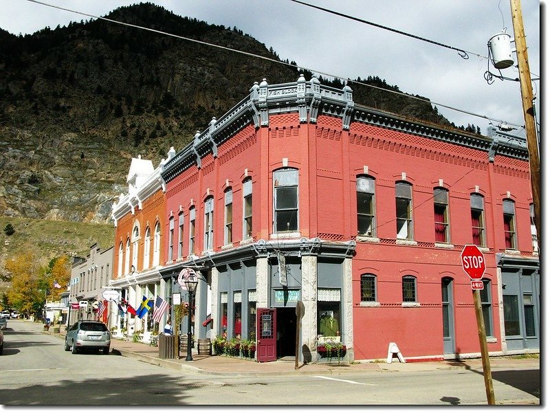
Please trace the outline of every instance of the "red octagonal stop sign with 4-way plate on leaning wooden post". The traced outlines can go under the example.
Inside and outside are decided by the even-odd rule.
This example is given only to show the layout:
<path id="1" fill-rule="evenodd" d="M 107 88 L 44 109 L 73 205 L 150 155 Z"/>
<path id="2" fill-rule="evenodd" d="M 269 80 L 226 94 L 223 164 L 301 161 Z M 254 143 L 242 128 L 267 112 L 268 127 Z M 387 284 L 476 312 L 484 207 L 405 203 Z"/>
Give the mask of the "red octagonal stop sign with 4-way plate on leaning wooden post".
<path id="1" fill-rule="evenodd" d="M 481 294 L 485 274 L 485 257 L 477 245 L 465 245 L 460 254 L 462 269 L 470 277 L 472 294 L 474 295 L 474 308 L 476 310 L 477 331 L 479 346 L 481 347 L 481 362 L 483 364 L 483 379 L 485 379 L 485 394 L 487 404 L 494 405 L 493 379 L 491 376 L 491 365 L 489 364 L 489 351 L 487 350 L 487 335 L 485 333 L 485 322 L 483 322 L 483 311 L 481 310 Z"/>

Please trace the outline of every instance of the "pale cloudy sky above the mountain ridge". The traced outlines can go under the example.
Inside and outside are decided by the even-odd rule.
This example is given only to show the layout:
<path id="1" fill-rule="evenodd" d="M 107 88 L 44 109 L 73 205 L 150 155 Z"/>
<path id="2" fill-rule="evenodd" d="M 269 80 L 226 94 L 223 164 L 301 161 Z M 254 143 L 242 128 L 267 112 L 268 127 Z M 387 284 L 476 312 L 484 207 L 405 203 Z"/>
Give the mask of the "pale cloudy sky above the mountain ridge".
<path id="1" fill-rule="evenodd" d="M 514 38 L 509 0 L 303 0 L 364 21 L 427 38 L 471 52 L 464 59 L 454 49 L 390 32 L 307 7 L 291 0 L 166 0 L 151 1 L 181 16 L 236 26 L 281 59 L 339 78 L 379 76 L 401 91 L 434 102 L 458 125 L 476 124 L 485 134 L 487 119 L 445 109 L 441 104 L 508 123 L 525 124 L 519 82 L 495 79 L 488 85 L 487 42 L 503 30 Z M 94 16 L 105 16 L 122 5 L 139 1 L 43 0 Z M 522 0 L 531 78 L 540 73 L 540 18 L 544 2 Z M 46 26 L 54 29 L 89 17 L 29 0 L 0 0 L 0 27 L 28 34 Z M 130 29 L 129 30 L 133 30 Z M 483 57 L 481 57 L 483 56 Z M 515 64 L 517 63 L 514 54 Z M 493 74 L 498 70 L 489 65 Z M 517 78 L 516 67 L 503 76 Z M 269 74 L 265 74 L 269 82 Z M 250 79 L 250 85 L 261 79 Z M 352 85 L 353 87 L 353 85 Z M 533 81 L 540 96 L 540 81 Z M 439 105 L 438 105 L 439 103 Z M 538 106 L 537 106 L 538 108 Z M 540 120 L 539 120 L 540 122 Z M 495 123 L 495 122 L 494 122 Z M 522 131 L 525 133 L 525 131 Z"/>

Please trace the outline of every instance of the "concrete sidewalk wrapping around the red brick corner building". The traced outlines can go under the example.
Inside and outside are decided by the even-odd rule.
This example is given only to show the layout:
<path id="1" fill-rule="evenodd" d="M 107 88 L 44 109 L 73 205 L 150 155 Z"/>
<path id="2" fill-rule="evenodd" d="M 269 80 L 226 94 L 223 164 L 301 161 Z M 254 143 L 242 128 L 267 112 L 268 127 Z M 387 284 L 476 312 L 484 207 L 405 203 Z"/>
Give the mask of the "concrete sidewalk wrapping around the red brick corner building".
<path id="1" fill-rule="evenodd" d="M 159 349 L 155 346 L 149 346 L 143 343 L 134 343 L 113 339 L 111 341 L 113 354 L 120 354 L 125 357 L 139 359 L 149 364 L 155 364 L 166 368 L 174 368 L 188 372 L 201 372 L 212 374 L 228 375 L 338 375 L 349 372 L 419 372 L 430 370 L 478 370 L 483 372 L 481 359 L 463 359 L 463 360 L 445 360 L 445 361 L 422 361 L 399 363 L 393 359 L 391 364 L 383 363 L 353 363 L 347 364 L 342 361 L 333 360 L 332 363 L 320 364 L 298 364 L 294 357 L 285 357 L 277 361 L 267 363 L 258 363 L 250 359 L 239 359 L 234 357 L 225 357 L 223 355 L 199 355 L 196 349 L 192 349 L 193 361 L 186 361 L 186 354 L 180 353 L 179 359 L 160 359 Z M 495 368 L 540 368 L 540 359 L 538 358 L 516 358 L 516 357 L 492 357 L 490 366 Z"/>

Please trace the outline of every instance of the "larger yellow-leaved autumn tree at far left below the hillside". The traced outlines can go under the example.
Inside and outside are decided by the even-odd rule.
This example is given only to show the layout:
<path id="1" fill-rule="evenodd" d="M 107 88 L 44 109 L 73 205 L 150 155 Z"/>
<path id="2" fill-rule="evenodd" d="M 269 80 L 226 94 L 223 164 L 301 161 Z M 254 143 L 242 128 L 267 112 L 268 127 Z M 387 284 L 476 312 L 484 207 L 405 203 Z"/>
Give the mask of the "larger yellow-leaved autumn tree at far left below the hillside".
<path id="1" fill-rule="evenodd" d="M 11 286 L 8 289 L 10 306 L 21 313 L 39 312 L 45 299 L 44 270 L 32 252 L 19 254 L 5 262 L 5 271 L 10 275 Z"/>

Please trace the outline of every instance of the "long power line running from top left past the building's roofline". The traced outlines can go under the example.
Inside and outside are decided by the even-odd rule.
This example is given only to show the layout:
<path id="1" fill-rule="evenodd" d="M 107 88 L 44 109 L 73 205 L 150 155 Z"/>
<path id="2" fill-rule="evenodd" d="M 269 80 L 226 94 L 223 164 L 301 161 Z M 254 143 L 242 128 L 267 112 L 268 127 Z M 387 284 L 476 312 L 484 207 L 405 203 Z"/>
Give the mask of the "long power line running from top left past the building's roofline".
<path id="1" fill-rule="evenodd" d="M 157 33 L 157 34 L 164 34 L 165 36 L 171 36 L 171 37 L 175 37 L 175 38 L 179 38 L 181 40 L 185 40 L 185 41 L 190 41 L 192 43 L 199 43 L 201 45 L 207 45 L 207 46 L 211 46 L 211 47 L 217 47 L 219 49 L 223 49 L 223 50 L 228 50 L 229 52 L 235 52 L 235 53 L 240 53 L 240 54 L 244 54 L 245 56 L 250 56 L 250 57 L 254 57 L 254 58 L 260 58 L 260 59 L 263 59 L 263 60 L 267 60 L 267 61 L 270 61 L 272 63 L 277 63 L 279 65 L 287 65 L 289 67 L 292 67 L 294 69 L 305 69 L 307 71 L 311 71 L 312 73 L 316 73 L 316 74 L 321 74 L 321 75 L 325 75 L 325 76 L 329 76 L 331 78 L 336 78 L 336 79 L 340 79 L 340 80 L 343 80 L 344 82 L 352 82 L 352 83 L 355 83 L 357 85 L 363 85 L 365 87 L 371 87 L 373 89 L 378 89 L 380 91 L 385 91 L 385 92 L 388 92 L 388 93 L 395 93 L 401 97 L 404 97 L 404 98 L 410 98 L 410 99 L 416 99 L 416 100 L 420 100 L 421 102 L 426 102 L 428 104 L 434 104 L 434 105 L 437 105 L 439 107 L 444 107 L 444 108 L 447 108 L 447 109 L 451 109 L 453 111 L 456 111 L 456 112 L 460 112 L 460 113 L 465 113 L 466 115 L 471 115 L 471 116 L 475 116 L 477 118 L 482 118 L 482 119 L 485 119 L 485 120 L 490 120 L 490 121 L 494 121 L 494 122 L 499 122 L 499 123 L 507 123 L 509 125 L 513 125 L 513 126 L 518 126 L 519 128 L 523 127 L 523 125 L 519 125 L 519 124 L 514 124 L 514 123 L 511 123 L 511 122 L 505 122 L 505 120 L 502 120 L 502 119 L 497 119 L 497 118 L 491 118 L 487 115 L 480 115 L 478 113 L 474 113 L 474 112 L 470 112 L 470 111 L 465 111 L 463 109 L 459 109 L 459 108 L 455 108 L 455 107 L 452 107 L 452 106 L 449 106 L 447 104 L 443 104 L 443 103 L 440 103 L 440 102 L 434 102 L 434 101 L 431 101 L 429 99 L 426 99 L 426 98 L 420 98 L 418 96 L 412 96 L 412 95 L 409 95 L 407 93 L 403 93 L 403 92 L 400 92 L 400 91 L 393 91 L 393 90 L 390 90 L 390 89 L 384 89 L 383 87 L 377 87 L 377 86 L 374 86 L 374 85 L 369 85 L 367 83 L 364 83 L 364 82 L 360 82 L 358 80 L 351 80 L 345 76 L 340 76 L 340 75 L 336 75 L 336 74 L 329 74 L 325 71 L 320 71 L 318 69 L 310 69 L 308 67 L 303 67 L 303 66 L 298 66 L 298 65 L 292 65 L 291 63 L 287 63 L 287 62 L 283 62 L 281 60 L 276 60 L 274 58 L 269 58 L 269 57 L 266 57 L 266 56 L 261 56 L 259 54 L 254 54 L 254 53 L 250 53 L 250 52 L 243 52 L 242 50 L 238 50 L 238 49 L 232 49 L 231 47 L 225 47 L 225 46 L 221 46 L 221 45 L 216 45 L 214 43 L 208 43 L 208 42 L 205 42 L 205 41 L 199 41 L 195 38 L 189 38 L 189 37 L 185 37 L 185 36 L 179 36 L 177 34 L 172 34 L 172 33 L 168 33 L 168 32 L 162 32 L 162 30 L 155 30 L 155 29 L 151 29 L 150 27 L 144 27 L 144 26 L 140 26 L 140 25 L 135 25 L 135 24 L 131 24 L 131 23 L 124 23 L 122 21 L 117 21 L 117 20 L 113 20 L 113 19 L 107 19 L 107 17 L 101 17 L 101 16 L 95 16 L 94 14 L 88 14 L 88 13 L 85 13 L 85 12 L 79 12 L 77 10 L 71 10 L 71 9 L 67 9 L 67 8 L 63 8 L 61 6 L 58 6 L 58 5 L 52 5 L 52 4 L 49 4 L 49 3 L 44 3 L 43 1 L 38 1 L 38 0 L 27 0 L 27 1 L 30 1 L 31 3 L 36 3 L 36 4 L 41 4 L 41 5 L 45 5 L 47 7 L 51 7 L 51 8 L 56 8 L 58 10 L 63 10 L 65 12 L 71 12 L 71 13 L 75 13 L 75 14 L 80 14 L 82 16 L 87 16 L 87 17 L 91 17 L 93 19 L 98 19 L 98 20 L 103 20 L 103 21 L 108 21 L 109 23 L 115 23 L 115 24 L 120 24 L 120 25 L 125 25 L 125 26 L 128 26 L 128 27 L 133 27 L 133 28 L 136 28 L 136 29 L 141 29 L 141 30 L 147 30 L 148 32 L 153 32 L 153 33 Z M 291 1 L 295 1 L 295 0 L 291 0 Z M 304 4 L 307 4 L 307 3 L 304 3 Z M 457 49 L 458 50 L 458 49 Z"/>

